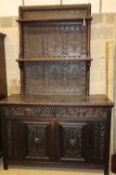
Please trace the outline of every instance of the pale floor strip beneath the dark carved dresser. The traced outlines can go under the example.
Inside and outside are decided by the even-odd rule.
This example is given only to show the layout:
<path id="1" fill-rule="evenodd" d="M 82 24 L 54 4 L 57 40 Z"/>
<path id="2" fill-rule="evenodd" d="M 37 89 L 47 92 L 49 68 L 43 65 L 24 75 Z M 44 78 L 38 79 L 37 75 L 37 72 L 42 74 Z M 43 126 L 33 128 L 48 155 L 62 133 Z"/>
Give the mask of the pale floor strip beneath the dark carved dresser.
<path id="1" fill-rule="evenodd" d="M 2 160 L 0 160 L 0 175 L 103 175 L 103 172 L 64 168 L 38 168 L 27 166 L 10 166 L 8 170 L 3 170 Z M 115 174 L 111 173 L 111 175 Z"/>

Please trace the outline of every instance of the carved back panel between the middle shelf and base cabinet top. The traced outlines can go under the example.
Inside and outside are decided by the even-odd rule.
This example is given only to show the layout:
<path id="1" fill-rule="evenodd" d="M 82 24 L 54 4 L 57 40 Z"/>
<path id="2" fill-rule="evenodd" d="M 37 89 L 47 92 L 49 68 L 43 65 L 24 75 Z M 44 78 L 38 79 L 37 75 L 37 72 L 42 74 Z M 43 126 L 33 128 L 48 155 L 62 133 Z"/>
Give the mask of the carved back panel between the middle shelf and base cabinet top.
<path id="1" fill-rule="evenodd" d="M 25 94 L 86 94 L 86 62 L 25 63 Z"/>

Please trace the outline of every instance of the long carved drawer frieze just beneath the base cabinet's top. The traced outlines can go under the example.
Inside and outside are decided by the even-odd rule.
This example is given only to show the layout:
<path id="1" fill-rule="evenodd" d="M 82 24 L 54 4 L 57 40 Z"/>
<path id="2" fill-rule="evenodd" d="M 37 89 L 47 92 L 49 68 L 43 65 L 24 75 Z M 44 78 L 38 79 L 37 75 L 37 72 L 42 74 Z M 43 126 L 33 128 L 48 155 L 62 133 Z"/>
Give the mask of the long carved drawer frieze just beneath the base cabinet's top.
<path id="1" fill-rule="evenodd" d="M 104 107 L 39 107 L 39 106 L 7 106 L 4 115 L 10 117 L 31 118 L 106 118 L 107 108 Z"/>

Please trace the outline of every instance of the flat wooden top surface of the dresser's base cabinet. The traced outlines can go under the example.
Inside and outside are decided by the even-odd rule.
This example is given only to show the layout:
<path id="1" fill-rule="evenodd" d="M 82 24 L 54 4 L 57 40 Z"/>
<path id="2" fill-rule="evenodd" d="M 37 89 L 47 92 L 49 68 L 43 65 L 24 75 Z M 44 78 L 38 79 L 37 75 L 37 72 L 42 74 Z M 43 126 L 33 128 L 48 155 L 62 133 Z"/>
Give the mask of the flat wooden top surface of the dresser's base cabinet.
<path id="1" fill-rule="evenodd" d="M 11 95 L 0 101 L 0 105 L 41 105 L 41 106 L 109 106 L 113 103 L 105 95 Z"/>

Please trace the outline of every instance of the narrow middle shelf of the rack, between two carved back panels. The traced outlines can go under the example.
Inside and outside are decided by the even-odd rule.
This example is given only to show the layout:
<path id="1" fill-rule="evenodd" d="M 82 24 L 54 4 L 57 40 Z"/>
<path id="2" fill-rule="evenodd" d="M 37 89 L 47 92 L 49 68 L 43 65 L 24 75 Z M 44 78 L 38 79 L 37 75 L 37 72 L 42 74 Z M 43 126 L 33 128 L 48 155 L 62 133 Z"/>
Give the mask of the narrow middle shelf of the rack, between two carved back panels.
<path id="1" fill-rule="evenodd" d="M 33 61 L 92 61 L 91 58 L 77 56 L 33 56 L 29 58 L 19 58 L 18 62 L 33 62 Z"/>

